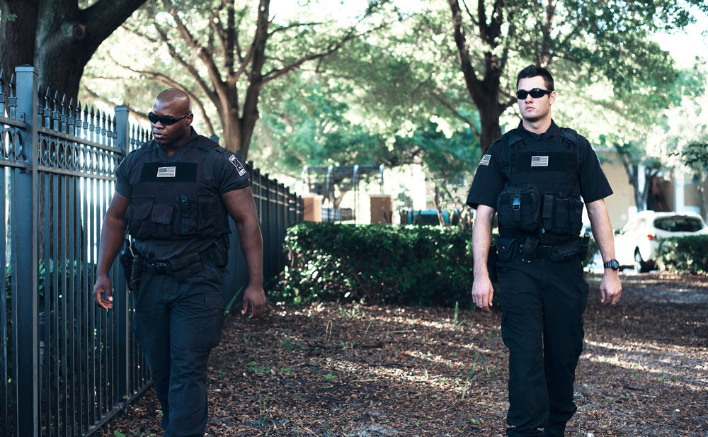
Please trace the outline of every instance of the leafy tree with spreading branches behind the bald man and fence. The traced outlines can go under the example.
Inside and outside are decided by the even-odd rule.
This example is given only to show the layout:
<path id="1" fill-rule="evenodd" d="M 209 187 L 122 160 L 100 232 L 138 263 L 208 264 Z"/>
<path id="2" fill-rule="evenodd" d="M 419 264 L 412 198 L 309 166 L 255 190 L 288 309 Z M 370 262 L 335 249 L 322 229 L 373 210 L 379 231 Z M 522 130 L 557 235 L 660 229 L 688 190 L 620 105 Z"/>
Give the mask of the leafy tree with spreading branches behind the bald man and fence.
<path id="1" fill-rule="evenodd" d="M 371 0 L 358 21 L 343 28 L 324 20 L 276 21 L 270 0 L 257 6 L 236 0 L 161 0 L 147 4 L 127 24 L 152 43 L 154 62 L 116 62 L 144 79 L 185 89 L 195 103 L 200 98 L 210 103 L 222 128 L 222 145 L 247 157 L 263 89 L 387 25 L 380 15 L 385 4 L 387 0 Z M 169 64 L 181 66 L 186 76 L 175 74 Z M 203 107 L 199 110 L 206 115 Z"/>

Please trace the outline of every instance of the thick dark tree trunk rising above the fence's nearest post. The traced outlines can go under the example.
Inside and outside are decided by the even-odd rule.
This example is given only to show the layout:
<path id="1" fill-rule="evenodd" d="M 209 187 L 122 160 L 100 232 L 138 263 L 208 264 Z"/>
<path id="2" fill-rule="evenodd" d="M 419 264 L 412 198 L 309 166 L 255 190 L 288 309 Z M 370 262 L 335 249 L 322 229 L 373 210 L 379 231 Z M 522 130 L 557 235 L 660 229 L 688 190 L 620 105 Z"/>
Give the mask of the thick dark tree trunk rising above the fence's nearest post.
<path id="1" fill-rule="evenodd" d="M 76 98 L 93 53 L 145 1 L 0 0 L 1 67 L 34 65 L 42 86 Z"/>

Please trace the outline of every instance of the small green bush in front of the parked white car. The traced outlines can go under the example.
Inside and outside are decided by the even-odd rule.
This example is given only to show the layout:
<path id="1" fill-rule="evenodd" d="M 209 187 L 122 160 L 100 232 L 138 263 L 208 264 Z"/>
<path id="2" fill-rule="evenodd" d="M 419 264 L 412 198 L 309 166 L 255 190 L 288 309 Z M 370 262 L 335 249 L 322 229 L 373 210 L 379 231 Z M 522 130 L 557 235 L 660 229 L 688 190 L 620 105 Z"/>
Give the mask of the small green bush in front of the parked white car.
<path id="1" fill-rule="evenodd" d="M 659 240 L 656 263 L 675 273 L 708 273 L 708 235 Z"/>

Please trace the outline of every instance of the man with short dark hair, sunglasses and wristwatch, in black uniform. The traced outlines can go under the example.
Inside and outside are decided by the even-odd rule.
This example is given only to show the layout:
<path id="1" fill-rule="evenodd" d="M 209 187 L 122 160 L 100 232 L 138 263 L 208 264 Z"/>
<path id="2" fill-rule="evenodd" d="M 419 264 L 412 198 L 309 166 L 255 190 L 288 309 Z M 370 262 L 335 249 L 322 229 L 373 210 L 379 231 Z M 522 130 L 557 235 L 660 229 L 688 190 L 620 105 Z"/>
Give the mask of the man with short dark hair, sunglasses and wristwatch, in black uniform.
<path id="1" fill-rule="evenodd" d="M 509 349 L 509 437 L 564 436 L 576 412 L 575 370 L 583 349 L 588 284 L 581 260 L 583 200 L 605 262 L 600 297 L 615 305 L 619 283 L 612 225 L 604 198 L 612 194 L 588 140 L 551 118 L 553 78 L 530 65 L 518 74 L 521 123 L 496 140 L 477 167 L 467 204 L 476 208 L 472 234 L 472 299 L 489 311 L 494 289 L 487 268 L 492 220 L 501 332 Z M 541 430 L 542 429 L 542 430 Z"/>

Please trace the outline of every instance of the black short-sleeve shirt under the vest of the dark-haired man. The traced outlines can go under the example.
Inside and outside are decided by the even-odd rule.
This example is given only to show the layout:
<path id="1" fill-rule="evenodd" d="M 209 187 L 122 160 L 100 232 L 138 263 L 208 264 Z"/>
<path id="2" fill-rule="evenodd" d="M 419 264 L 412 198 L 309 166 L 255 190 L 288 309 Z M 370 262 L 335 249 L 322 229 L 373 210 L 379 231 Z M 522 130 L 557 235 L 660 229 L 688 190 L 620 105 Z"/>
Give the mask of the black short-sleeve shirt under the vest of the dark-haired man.
<path id="1" fill-rule="evenodd" d="M 478 205 L 487 205 L 496 209 L 496 200 L 506 185 L 510 171 L 509 147 L 506 142 L 508 135 L 520 135 L 523 137 L 523 141 L 536 151 L 542 150 L 544 143 L 557 142 L 561 135 L 561 129 L 552 121 L 546 132 L 535 134 L 525 130 L 523 124 L 519 123 L 515 130 L 507 132 L 499 140 L 493 142 L 479 161 L 472 187 L 467 195 L 467 205 L 472 208 L 477 208 Z M 600 168 L 598 154 L 590 146 L 590 142 L 581 135 L 577 135 L 577 144 L 580 170 L 578 183 L 583 200 L 585 203 L 590 203 L 606 198 L 612 194 L 612 188 Z"/>

